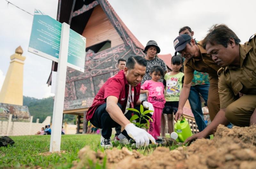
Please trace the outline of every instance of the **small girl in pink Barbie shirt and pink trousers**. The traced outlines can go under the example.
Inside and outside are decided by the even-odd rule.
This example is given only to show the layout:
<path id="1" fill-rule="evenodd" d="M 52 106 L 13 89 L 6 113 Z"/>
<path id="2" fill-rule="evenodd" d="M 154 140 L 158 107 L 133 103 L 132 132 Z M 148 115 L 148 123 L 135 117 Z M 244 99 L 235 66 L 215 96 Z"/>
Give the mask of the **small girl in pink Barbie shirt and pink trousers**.
<path id="1" fill-rule="evenodd" d="M 140 87 L 140 93 L 146 93 L 148 102 L 154 106 L 154 114 L 151 117 L 153 122 L 149 120 L 150 125 L 148 126 L 148 133 L 151 134 L 157 141 L 157 137 L 160 136 L 161 130 L 161 116 L 164 108 L 164 84 L 160 82 L 164 71 L 160 66 L 151 67 L 149 74 L 151 80 L 145 81 Z"/>

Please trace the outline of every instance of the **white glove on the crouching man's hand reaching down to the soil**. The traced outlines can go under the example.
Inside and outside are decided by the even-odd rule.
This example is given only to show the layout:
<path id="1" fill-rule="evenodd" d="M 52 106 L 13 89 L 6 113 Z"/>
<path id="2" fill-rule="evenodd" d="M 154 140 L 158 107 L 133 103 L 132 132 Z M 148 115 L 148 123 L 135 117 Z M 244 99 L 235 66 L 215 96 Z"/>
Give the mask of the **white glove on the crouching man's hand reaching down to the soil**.
<path id="1" fill-rule="evenodd" d="M 140 148 L 141 146 L 148 146 L 149 140 L 151 140 L 152 144 L 156 144 L 156 140 L 153 136 L 151 136 L 147 131 L 136 127 L 134 124 L 129 123 L 124 128 L 128 134 L 135 142 L 136 147 Z"/>

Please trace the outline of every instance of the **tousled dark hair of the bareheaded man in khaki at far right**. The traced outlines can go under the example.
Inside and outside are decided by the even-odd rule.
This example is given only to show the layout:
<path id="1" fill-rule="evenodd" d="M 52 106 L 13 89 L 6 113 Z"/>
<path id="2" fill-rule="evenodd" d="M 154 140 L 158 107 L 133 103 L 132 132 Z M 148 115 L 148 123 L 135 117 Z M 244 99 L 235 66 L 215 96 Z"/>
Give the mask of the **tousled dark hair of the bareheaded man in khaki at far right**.
<path id="1" fill-rule="evenodd" d="M 208 42 L 212 45 L 220 44 L 224 47 L 228 47 L 230 38 L 235 40 L 236 45 L 241 42 L 241 40 L 236 36 L 236 33 L 229 29 L 227 25 L 216 24 L 209 29 L 208 34 L 203 39 L 203 47 L 205 49 Z"/>

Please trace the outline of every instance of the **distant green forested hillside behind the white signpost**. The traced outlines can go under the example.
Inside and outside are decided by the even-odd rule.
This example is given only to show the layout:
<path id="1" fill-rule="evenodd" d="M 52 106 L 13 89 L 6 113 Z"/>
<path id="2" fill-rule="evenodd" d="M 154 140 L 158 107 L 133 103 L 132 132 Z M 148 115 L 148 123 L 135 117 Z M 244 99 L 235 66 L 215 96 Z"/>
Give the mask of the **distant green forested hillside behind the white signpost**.
<path id="1" fill-rule="evenodd" d="M 39 123 L 42 123 L 47 116 L 51 116 L 53 113 L 53 97 L 48 97 L 44 99 L 36 99 L 34 97 L 23 96 L 23 105 L 28 106 L 28 110 L 31 116 L 33 116 L 33 123 L 39 118 Z M 76 123 L 75 115 L 64 115 L 63 123 Z"/>

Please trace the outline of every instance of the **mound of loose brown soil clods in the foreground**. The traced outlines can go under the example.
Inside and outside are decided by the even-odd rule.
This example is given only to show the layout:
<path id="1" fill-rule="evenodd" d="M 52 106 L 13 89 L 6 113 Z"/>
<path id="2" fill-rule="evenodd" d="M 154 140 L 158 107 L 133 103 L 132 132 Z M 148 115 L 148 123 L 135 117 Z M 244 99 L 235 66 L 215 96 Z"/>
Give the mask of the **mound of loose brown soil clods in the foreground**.
<path id="1" fill-rule="evenodd" d="M 136 150 L 129 151 L 125 147 L 122 150 L 106 150 L 105 153 L 85 147 L 80 150 L 80 162 L 74 168 L 86 168 L 89 166 L 88 161 L 102 164 L 105 155 L 107 168 L 252 169 L 256 166 L 256 125 L 233 129 L 219 125 L 213 140 L 199 139 L 189 147 L 172 151 L 166 147 L 157 147 L 149 156 L 143 156 Z"/>

